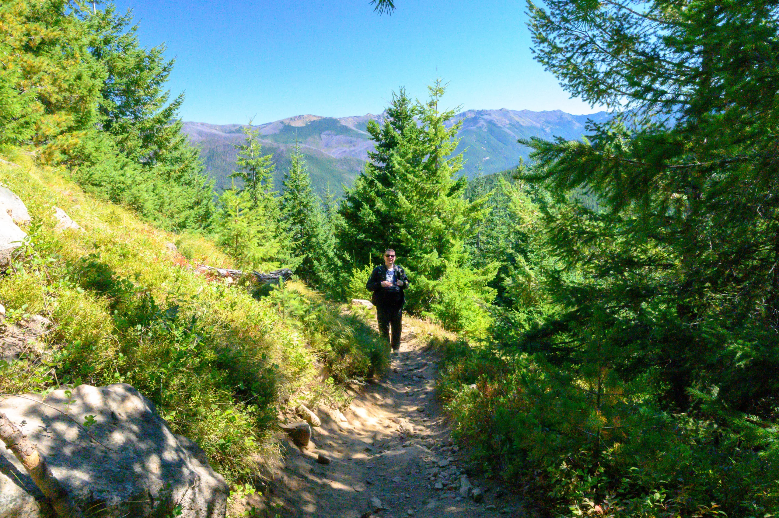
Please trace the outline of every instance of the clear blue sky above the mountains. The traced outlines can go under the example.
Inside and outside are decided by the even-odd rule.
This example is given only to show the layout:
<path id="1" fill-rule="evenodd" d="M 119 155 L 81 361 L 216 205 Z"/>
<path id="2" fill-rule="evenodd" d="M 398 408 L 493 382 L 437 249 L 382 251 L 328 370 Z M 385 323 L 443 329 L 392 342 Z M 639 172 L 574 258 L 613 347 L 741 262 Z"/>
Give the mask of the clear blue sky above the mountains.
<path id="1" fill-rule="evenodd" d="M 523 0 L 116 0 L 144 46 L 176 58 L 169 86 L 185 121 L 270 122 L 384 110 L 405 86 L 425 97 L 436 70 L 446 107 L 597 111 L 534 62 Z"/>

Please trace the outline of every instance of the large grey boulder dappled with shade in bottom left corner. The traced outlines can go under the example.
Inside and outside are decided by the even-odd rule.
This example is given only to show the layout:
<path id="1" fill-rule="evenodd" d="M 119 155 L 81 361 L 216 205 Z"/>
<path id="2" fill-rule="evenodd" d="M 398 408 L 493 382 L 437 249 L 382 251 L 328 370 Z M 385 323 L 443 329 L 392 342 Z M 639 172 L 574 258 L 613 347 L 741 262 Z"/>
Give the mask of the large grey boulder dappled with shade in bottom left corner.
<path id="1" fill-rule="evenodd" d="M 5 413 L 88 515 L 101 518 L 224 518 L 229 488 L 203 450 L 174 435 L 153 403 L 125 383 L 7 396 Z M 46 406 L 48 405 L 48 406 Z M 54 408 L 52 408 L 54 407 Z M 55 410 L 58 409 L 59 411 Z M 76 425 L 93 417 L 86 428 Z M 0 449 L 0 518 L 52 516 L 21 463 Z"/>

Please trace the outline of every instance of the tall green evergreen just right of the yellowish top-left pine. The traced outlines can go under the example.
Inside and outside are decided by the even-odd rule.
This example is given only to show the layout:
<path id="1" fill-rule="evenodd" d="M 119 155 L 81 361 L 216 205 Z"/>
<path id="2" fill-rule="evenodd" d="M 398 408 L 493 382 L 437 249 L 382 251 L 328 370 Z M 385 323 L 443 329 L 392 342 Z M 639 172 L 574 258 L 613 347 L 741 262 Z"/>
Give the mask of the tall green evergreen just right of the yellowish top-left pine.
<path id="1" fill-rule="evenodd" d="M 103 11 L 80 12 L 80 18 L 90 53 L 106 77 L 100 90 L 101 131 L 81 146 L 74 178 L 161 226 L 207 225 L 213 182 L 182 132 L 178 110 L 183 94 L 169 102 L 170 91 L 164 89 L 174 60 L 164 59 L 164 45 L 140 46 L 132 12 L 119 15 L 108 5 Z"/>

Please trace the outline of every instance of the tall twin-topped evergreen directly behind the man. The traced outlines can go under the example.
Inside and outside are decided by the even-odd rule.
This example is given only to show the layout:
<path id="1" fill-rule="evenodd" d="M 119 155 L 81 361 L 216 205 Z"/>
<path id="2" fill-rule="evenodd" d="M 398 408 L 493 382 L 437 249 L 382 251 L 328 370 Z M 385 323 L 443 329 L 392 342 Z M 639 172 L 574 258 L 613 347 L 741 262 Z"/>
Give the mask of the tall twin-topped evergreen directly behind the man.
<path id="1" fill-rule="evenodd" d="M 413 281 L 412 310 L 431 310 L 453 329 L 484 337 L 497 265 L 468 269 L 464 242 L 484 217 L 485 199 L 464 198 L 467 180 L 457 178 L 463 157 L 451 157 L 460 124 L 447 127 L 455 110 L 439 111 L 440 80 L 429 91 L 426 103 L 412 104 L 400 90 L 384 125 L 368 125 L 375 152 L 340 206 L 340 242 L 362 264 L 365 252 L 379 258 L 394 248 Z"/>

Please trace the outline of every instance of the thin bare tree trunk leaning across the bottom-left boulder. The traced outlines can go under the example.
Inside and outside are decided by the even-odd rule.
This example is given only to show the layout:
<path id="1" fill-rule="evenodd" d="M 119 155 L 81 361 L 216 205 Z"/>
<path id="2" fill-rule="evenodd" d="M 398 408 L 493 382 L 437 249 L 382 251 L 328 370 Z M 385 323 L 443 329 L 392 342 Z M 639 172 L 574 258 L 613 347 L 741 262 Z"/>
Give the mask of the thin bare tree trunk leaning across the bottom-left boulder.
<path id="1" fill-rule="evenodd" d="M 16 428 L 9 418 L 0 412 L 0 440 L 5 442 L 5 448 L 10 449 L 24 469 L 30 474 L 35 485 L 41 489 L 46 499 L 51 503 L 59 518 L 83 518 L 79 506 L 73 503 L 62 484 L 51 474 L 46 461 L 38 455 L 34 444 Z"/>

